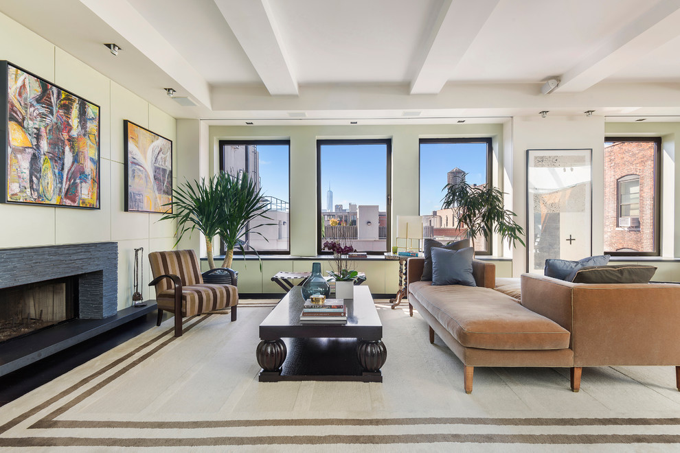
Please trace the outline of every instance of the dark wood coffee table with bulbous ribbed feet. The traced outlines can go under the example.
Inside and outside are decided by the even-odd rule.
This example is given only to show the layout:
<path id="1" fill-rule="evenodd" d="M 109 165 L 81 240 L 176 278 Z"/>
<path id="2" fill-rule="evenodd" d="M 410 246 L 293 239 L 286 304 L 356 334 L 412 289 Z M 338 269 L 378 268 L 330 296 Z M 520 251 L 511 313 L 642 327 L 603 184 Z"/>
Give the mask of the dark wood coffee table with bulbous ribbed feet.
<path id="1" fill-rule="evenodd" d="M 301 324 L 302 305 L 295 287 L 260 324 L 260 382 L 383 382 L 383 325 L 367 287 L 355 286 L 354 299 L 345 299 L 346 325 Z"/>

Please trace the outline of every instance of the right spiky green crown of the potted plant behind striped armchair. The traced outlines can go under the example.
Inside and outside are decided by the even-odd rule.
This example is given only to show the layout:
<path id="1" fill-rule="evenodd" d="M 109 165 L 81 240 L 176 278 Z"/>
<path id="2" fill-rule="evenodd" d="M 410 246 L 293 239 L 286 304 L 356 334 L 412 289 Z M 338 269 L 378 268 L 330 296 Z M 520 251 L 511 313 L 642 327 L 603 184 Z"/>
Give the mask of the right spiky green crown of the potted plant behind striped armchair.
<path id="1" fill-rule="evenodd" d="M 231 267 L 234 257 L 234 248 L 238 247 L 241 253 L 245 253 L 243 237 L 246 233 L 260 235 L 260 231 L 253 231 L 258 227 L 273 225 L 272 223 L 253 224 L 253 220 L 260 217 L 271 220 L 266 216 L 269 211 L 269 202 L 257 187 L 255 181 L 248 178 L 247 174 L 231 176 L 228 173 L 220 173 L 216 181 L 216 190 L 223 199 L 222 210 L 219 216 L 218 235 L 225 243 L 225 260 L 223 268 Z M 264 237 L 267 240 L 267 237 Z M 252 247 L 251 247 L 252 248 Z M 256 254 L 258 252 L 253 248 Z M 260 255 L 258 254 L 258 257 Z M 262 268 L 262 262 L 260 262 Z"/>

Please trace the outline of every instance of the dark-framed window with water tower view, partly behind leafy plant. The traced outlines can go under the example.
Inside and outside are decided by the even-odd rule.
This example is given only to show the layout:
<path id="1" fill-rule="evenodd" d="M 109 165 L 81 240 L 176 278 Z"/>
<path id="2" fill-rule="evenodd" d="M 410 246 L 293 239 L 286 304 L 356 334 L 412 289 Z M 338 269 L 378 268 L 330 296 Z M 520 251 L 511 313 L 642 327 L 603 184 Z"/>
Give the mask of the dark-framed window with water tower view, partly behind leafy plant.
<path id="1" fill-rule="evenodd" d="M 446 185 L 464 178 L 468 184 L 491 183 L 491 139 L 420 139 L 420 216 L 423 237 L 440 242 L 467 235 L 457 229 L 452 209 L 442 209 Z M 475 237 L 475 253 L 490 255 L 486 237 Z"/>

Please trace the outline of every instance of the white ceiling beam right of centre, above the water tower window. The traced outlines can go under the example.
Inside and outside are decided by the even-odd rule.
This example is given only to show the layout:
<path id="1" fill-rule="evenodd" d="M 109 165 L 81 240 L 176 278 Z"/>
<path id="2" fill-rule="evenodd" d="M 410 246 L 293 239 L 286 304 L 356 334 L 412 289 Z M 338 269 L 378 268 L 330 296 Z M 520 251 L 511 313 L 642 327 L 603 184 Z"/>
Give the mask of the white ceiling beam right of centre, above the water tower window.
<path id="1" fill-rule="evenodd" d="M 446 0 L 422 53 L 411 94 L 438 94 L 471 46 L 499 0 Z"/>

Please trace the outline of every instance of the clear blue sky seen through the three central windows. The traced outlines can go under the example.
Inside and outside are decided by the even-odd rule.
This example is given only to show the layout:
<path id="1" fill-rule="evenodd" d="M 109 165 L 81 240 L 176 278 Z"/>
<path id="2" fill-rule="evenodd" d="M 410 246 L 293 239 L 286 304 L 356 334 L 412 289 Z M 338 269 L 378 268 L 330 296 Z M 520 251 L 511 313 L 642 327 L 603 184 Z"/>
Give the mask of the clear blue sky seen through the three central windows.
<path id="1" fill-rule="evenodd" d="M 258 145 L 264 195 L 288 200 L 288 146 Z M 382 143 L 321 146 L 321 208 L 330 183 L 333 205 L 378 205 L 385 211 L 387 149 Z M 420 146 L 420 215 L 440 209 L 446 174 L 459 167 L 468 183 L 486 183 L 486 143 Z M 417 170 L 415 170 L 417 171 Z M 331 207 L 332 208 L 332 207 Z"/>

